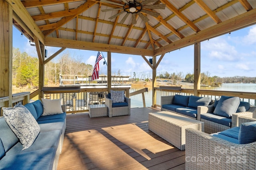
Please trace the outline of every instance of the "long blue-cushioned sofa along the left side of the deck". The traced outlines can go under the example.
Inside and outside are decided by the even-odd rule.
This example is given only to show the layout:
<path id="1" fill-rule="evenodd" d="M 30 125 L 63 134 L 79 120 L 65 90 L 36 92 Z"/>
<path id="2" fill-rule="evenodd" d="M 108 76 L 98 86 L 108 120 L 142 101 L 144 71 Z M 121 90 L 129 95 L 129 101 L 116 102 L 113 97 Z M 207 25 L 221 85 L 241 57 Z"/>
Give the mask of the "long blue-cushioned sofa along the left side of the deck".
<path id="1" fill-rule="evenodd" d="M 18 107 L 26 110 L 24 106 L 14 108 Z M 65 106 L 61 106 L 62 113 L 51 115 L 42 115 L 44 106 L 40 100 L 25 107 L 30 111 L 27 114 L 32 114 L 38 123 L 40 132 L 32 145 L 25 149 L 21 139 L 8 125 L 6 116 L 0 117 L 0 169 L 55 170 L 66 129 Z"/>

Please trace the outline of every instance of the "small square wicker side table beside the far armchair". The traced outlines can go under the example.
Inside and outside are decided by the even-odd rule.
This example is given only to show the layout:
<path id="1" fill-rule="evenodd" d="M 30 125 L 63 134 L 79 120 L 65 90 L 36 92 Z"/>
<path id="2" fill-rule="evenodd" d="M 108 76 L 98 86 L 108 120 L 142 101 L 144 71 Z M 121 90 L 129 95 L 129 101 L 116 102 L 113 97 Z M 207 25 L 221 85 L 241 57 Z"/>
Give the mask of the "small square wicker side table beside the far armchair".
<path id="1" fill-rule="evenodd" d="M 89 105 L 90 117 L 102 117 L 108 115 L 108 106 L 105 104 Z"/>

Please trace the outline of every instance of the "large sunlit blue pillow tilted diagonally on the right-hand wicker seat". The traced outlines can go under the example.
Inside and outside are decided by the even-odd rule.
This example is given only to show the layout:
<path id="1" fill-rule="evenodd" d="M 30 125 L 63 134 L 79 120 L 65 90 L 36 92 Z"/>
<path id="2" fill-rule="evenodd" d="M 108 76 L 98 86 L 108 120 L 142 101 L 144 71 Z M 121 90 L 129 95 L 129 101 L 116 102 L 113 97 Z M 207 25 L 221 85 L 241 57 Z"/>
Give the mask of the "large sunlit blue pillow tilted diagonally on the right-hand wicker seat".
<path id="1" fill-rule="evenodd" d="M 222 117 L 231 117 L 240 104 L 240 99 L 238 97 L 221 96 L 220 100 L 214 109 L 213 113 Z"/>

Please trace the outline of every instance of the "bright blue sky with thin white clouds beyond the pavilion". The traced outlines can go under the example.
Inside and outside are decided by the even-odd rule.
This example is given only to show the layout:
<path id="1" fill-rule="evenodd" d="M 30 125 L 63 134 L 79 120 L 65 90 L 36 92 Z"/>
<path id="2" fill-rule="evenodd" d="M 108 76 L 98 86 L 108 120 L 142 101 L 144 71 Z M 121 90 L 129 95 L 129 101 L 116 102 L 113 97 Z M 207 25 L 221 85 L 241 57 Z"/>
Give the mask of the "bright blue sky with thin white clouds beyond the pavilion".
<path id="1" fill-rule="evenodd" d="M 37 57 L 36 47 L 29 44 L 29 39 L 21 37 L 21 32 L 13 27 L 13 47 L 19 48 L 32 57 Z M 60 48 L 48 47 L 48 57 Z M 66 49 L 52 61 L 58 59 L 64 53 L 69 53 L 74 59 L 94 66 L 98 51 Z M 107 61 L 107 53 L 102 52 Z M 157 61 L 160 56 L 157 57 Z M 147 57 L 150 59 L 152 57 Z M 107 74 L 107 66 L 100 61 L 100 74 Z M 139 78 L 152 78 L 152 70 L 140 55 L 111 54 L 112 75 L 120 70 L 121 75 Z M 157 76 L 168 72 L 169 74 L 182 72 L 186 74 L 194 72 L 194 45 L 166 53 L 156 69 Z M 201 72 L 209 76 L 232 77 L 247 76 L 256 77 L 256 25 L 240 29 L 208 41 L 201 42 Z"/>

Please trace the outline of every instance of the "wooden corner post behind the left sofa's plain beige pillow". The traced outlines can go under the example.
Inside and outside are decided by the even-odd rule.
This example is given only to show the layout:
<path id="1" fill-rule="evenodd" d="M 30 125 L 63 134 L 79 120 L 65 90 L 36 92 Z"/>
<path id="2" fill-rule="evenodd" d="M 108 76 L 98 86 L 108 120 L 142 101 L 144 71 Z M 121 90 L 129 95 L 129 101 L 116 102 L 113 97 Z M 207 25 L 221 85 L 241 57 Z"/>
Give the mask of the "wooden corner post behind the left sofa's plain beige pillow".
<path id="1" fill-rule="evenodd" d="M 40 49 L 38 51 L 38 58 L 42 57 L 41 62 L 39 59 L 39 84 L 38 84 L 38 99 L 44 98 L 44 93 L 42 92 L 42 88 L 44 87 L 44 45 L 39 41 Z M 39 53 L 41 56 L 39 56 Z"/>

